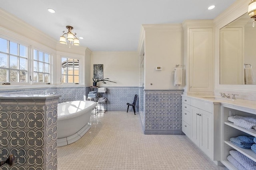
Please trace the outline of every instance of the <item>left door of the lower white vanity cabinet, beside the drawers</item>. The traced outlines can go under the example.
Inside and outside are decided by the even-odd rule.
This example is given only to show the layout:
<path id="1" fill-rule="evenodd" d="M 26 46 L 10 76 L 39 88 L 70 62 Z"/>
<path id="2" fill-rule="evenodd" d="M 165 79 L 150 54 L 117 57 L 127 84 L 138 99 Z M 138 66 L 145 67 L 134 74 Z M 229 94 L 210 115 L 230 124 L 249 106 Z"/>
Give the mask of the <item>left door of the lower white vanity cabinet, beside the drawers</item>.
<path id="1" fill-rule="evenodd" d="M 200 109 L 191 106 L 190 107 L 190 139 L 199 147 L 200 137 Z"/>

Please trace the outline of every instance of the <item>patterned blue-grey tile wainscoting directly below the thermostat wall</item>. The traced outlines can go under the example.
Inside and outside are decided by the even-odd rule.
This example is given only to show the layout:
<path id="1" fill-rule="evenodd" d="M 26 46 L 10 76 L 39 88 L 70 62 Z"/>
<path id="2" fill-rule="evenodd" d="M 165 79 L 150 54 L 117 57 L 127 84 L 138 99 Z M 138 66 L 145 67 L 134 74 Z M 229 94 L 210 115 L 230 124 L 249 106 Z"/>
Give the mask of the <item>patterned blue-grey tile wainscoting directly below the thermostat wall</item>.
<path id="1" fill-rule="evenodd" d="M 144 134 L 184 135 L 182 132 L 183 90 L 144 90 Z"/>

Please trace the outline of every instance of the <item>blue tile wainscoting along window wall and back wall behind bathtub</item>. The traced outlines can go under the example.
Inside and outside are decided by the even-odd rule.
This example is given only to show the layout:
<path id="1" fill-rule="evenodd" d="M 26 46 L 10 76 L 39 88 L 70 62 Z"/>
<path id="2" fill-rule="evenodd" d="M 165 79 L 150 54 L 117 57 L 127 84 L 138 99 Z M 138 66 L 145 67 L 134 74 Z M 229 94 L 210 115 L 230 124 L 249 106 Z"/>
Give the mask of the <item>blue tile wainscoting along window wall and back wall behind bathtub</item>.
<path id="1" fill-rule="evenodd" d="M 61 95 L 58 103 L 69 102 L 75 100 L 86 100 L 88 93 L 92 89 L 85 86 L 69 86 L 69 87 L 49 87 L 35 89 L 19 89 L 19 90 L 0 90 L 0 94 L 46 94 L 54 92 Z M 138 87 L 107 87 L 108 93 L 108 111 L 127 111 L 126 103 L 132 103 L 134 95 L 138 94 Z M 139 98 L 135 106 L 139 111 Z M 129 107 L 132 111 L 132 107 Z"/>

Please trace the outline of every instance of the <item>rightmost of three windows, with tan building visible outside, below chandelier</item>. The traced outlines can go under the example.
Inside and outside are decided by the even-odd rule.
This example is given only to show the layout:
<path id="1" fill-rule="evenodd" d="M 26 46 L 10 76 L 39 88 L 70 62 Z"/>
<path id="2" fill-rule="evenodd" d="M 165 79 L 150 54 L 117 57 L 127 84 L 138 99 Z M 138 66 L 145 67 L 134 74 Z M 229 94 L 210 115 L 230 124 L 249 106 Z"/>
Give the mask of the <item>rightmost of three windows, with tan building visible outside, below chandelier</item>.
<path id="1" fill-rule="evenodd" d="M 79 83 L 79 60 L 61 58 L 61 81 L 62 83 Z"/>

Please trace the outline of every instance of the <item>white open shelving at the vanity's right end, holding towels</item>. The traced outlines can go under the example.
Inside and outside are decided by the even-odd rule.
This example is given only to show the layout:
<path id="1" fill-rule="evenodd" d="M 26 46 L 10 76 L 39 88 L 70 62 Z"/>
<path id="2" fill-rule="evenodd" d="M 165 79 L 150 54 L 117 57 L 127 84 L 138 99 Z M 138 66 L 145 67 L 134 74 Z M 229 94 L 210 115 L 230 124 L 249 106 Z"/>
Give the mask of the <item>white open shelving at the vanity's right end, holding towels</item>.
<path id="1" fill-rule="evenodd" d="M 255 106 L 254 106 L 255 107 Z M 230 170 L 236 170 L 228 160 L 227 156 L 230 155 L 230 150 L 238 150 L 248 158 L 256 162 L 256 153 L 251 149 L 240 148 L 230 142 L 231 137 L 238 137 L 240 135 L 251 135 L 256 137 L 256 131 L 244 129 L 234 123 L 228 121 L 228 117 L 231 115 L 241 116 L 256 116 L 256 109 L 248 109 L 246 107 L 237 107 L 229 104 L 222 104 L 222 164 L 224 164 Z"/>

